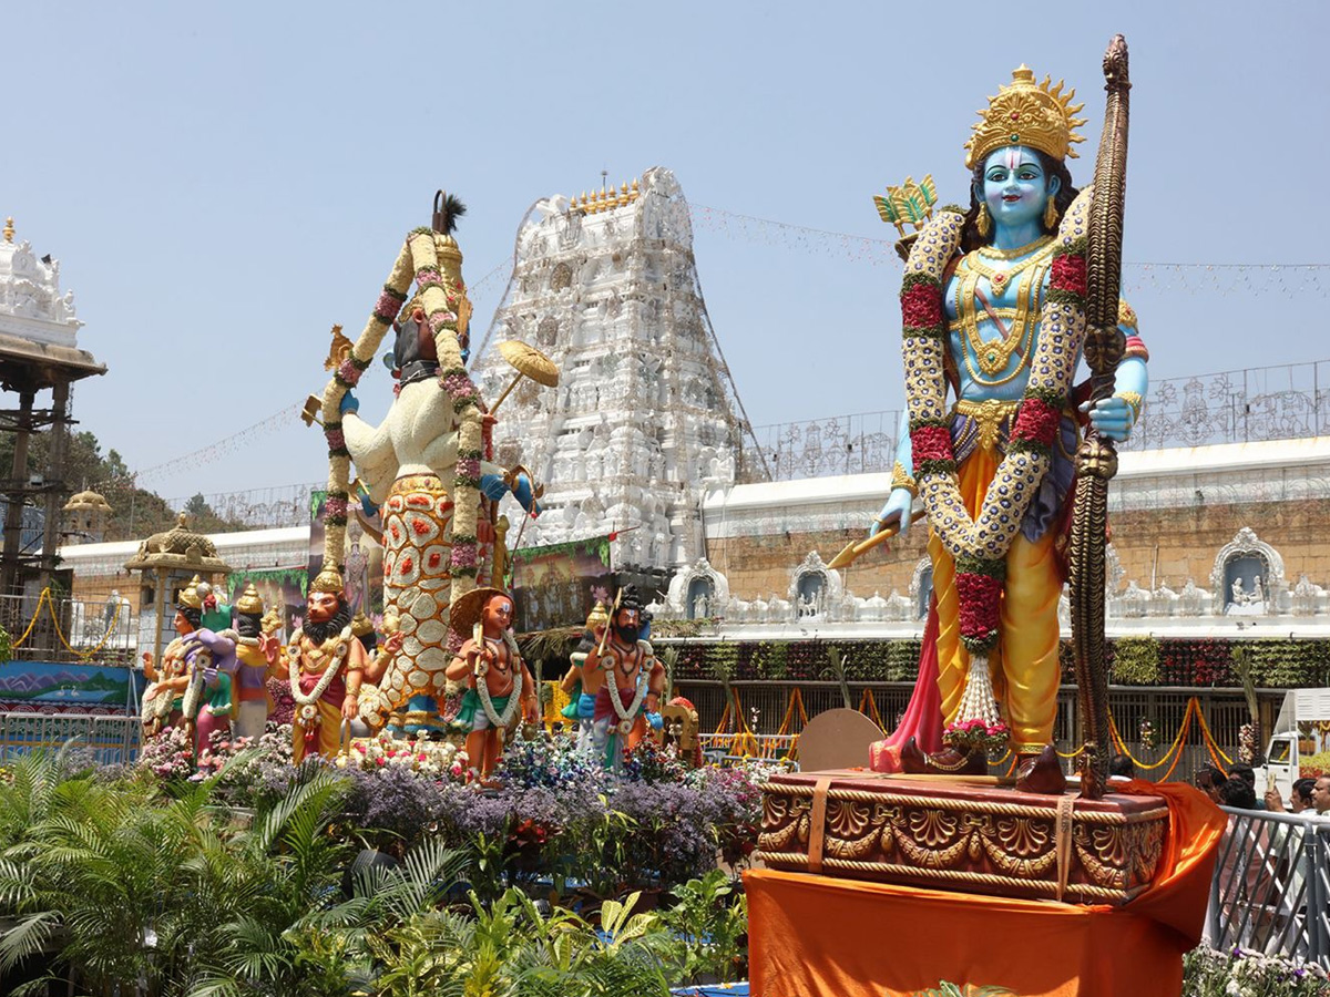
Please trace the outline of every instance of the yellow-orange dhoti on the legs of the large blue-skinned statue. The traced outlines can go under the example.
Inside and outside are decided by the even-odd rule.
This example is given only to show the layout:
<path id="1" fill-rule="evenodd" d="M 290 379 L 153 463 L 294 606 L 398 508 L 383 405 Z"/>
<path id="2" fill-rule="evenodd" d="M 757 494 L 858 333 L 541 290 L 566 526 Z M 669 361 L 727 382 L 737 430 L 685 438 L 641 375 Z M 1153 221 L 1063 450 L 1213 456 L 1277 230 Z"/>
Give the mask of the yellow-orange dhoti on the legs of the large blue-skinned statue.
<path id="1" fill-rule="evenodd" d="M 960 465 L 960 495 L 971 516 L 976 514 L 998 469 L 992 449 L 978 447 Z M 1057 600 L 1063 592 L 1063 568 L 1055 552 L 1056 525 L 1037 541 L 1017 533 L 1007 552 L 998 646 L 988 654 L 994 690 L 1011 727 L 1012 748 L 1039 751 L 1053 739 L 1061 665 L 1057 649 Z M 938 600 L 938 689 L 942 715 L 956 718 L 966 691 L 970 653 L 960 642 L 960 598 L 956 593 L 956 562 L 942 538 L 928 529 L 932 589 Z"/>

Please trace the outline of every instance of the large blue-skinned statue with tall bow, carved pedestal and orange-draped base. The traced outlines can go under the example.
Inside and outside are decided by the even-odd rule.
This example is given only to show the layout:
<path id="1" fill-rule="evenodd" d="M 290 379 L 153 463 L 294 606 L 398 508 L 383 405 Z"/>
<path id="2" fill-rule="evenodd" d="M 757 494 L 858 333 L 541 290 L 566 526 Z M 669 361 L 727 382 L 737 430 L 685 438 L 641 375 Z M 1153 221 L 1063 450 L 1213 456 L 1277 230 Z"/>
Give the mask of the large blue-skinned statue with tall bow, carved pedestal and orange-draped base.
<path id="1" fill-rule="evenodd" d="M 1107 484 L 1116 469 L 1113 439 L 1136 416 L 1132 399 L 1121 396 L 1145 388 L 1144 347 L 1120 327 L 1130 86 L 1121 36 L 1105 52 L 1104 78 L 1092 194 L 1059 203 L 1079 109 L 1061 85 L 1035 84 L 1021 68 L 971 141 L 979 170 L 971 211 L 943 209 L 936 219 L 923 213 L 908 247 L 902 310 L 911 439 L 902 464 L 912 463 L 915 480 L 898 483 L 904 495 L 892 496 L 872 537 L 853 545 L 861 553 L 908 525 L 900 522 L 910 513 L 907 488 L 918 488 L 939 589 L 915 695 L 894 739 L 872 751 L 874 768 L 903 767 L 906 776 L 791 772 L 762 787 L 754 859 L 765 868 L 745 875 L 755 992 L 914 993 L 958 965 L 968 978 L 1000 980 L 1013 993 L 1107 997 L 1182 986 L 1182 956 L 1201 936 L 1224 815 L 1192 787 L 1109 787 L 1099 774 L 1111 730 L 1096 706 L 1107 669 L 1093 646 L 1103 641 Z M 928 187 L 926 181 L 902 191 L 903 217 L 931 203 Z M 1040 233 L 1055 222 L 1057 234 L 1043 242 Z M 1012 250 L 1008 258 L 979 253 L 1013 226 L 1019 241 L 996 239 L 998 249 Z M 1047 262 L 1017 270 L 1041 245 L 1052 247 Z M 979 266 L 988 273 L 976 274 Z M 1005 354 L 1011 339 L 1017 346 Z M 1081 356 L 1091 371 L 1085 393 L 1072 383 Z M 967 400 L 992 404 L 966 411 L 959 403 Z M 1084 425 L 1073 412 L 1087 416 Z M 1077 436 L 1075 481 L 1063 485 L 1055 463 L 1072 456 Z M 1045 504 L 1048 525 L 1039 521 Z M 1060 673 L 1059 514 L 1071 520 L 1067 578 L 1087 730 L 1079 794 L 1065 792 L 1047 743 Z M 914 735 L 948 748 L 924 756 Z M 1020 756 L 1015 791 L 967 771 L 1004 747 Z M 920 770 L 954 778 L 910 778 Z M 815 889 L 809 877 L 819 880 Z M 854 929 L 864 920 L 876 936 L 918 940 L 916 957 L 866 949 Z M 1055 935 L 1053 958 L 1029 957 L 1037 940 Z M 1124 961 L 1127 949 L 1132 957 Z"/>

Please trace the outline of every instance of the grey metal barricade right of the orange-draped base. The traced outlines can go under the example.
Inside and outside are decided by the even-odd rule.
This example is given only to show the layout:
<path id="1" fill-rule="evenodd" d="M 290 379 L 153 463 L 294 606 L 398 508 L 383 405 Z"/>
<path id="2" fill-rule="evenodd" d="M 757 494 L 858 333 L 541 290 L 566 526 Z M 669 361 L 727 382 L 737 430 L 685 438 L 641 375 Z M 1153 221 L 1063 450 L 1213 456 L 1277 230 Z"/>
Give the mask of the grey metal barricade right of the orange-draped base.
<path id="1" fill-rule="evenodd" d="M 1330 823 L 1222 807 L 1206 941 L 1330 969 Z"/>

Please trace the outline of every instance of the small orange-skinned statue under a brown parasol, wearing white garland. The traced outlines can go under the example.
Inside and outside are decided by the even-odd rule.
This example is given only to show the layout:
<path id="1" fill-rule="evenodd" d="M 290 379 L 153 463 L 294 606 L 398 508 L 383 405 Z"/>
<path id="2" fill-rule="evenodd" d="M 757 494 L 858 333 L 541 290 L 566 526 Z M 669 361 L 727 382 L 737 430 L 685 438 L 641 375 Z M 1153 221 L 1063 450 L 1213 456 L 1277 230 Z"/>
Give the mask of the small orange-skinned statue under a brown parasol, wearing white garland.
<path id="1" fill-rule="evenodd" d="M 536 682 L 513 639 L 512 614 L 512 597 L 492 588 L 472 589 L 452 606 L 454 631 L 468 635 L 447 677 L 466 685 L 456 720 L 467 731 L 467 756 L 480 779 L 493 772 L 519 722 L 540 722 Z"/>

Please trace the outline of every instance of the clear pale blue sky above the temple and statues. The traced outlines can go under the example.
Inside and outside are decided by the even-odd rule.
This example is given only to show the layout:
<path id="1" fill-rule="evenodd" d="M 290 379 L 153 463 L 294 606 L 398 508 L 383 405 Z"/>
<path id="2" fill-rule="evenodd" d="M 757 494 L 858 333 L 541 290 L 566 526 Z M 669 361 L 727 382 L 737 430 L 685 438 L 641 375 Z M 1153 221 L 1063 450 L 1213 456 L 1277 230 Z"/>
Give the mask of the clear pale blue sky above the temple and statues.
<path id="1" fill-rule="evenodd" d="M 617 182 L 664 165 L 694 203 L 886 238 L 870 201 L 886 183 L 931 171 L 943 202 L 966 198 L 974 112 L 1020 62 L 1084 96 L 1085 182 L 1115 32 L 1134 82 L 1127 259 L 1327 262 L 1327 12 L 11 4 L 0 217 L 61 259 L 81 343 L 110 368 L 77 388 L 76 417 L 148 468 L 318 391 L 329 327 L 358 334 L 439 186 L 469 207 L 472 283 L 532 201 L 602 167 Z M 895 266 L 716 226 L 696 253 L 754 424 L 900 404 Z M 477 339 L 501 284 L 480 288 Z M 1202 275 L 1130 298 L 1169 378 L 1330 356 L 1319 288 L 1221 294 Z M 390 387 L 367 378 L 362 413 Z M 146 484 L 174 497 L 325 473 L 321 435 L 293 424 Z"/>

